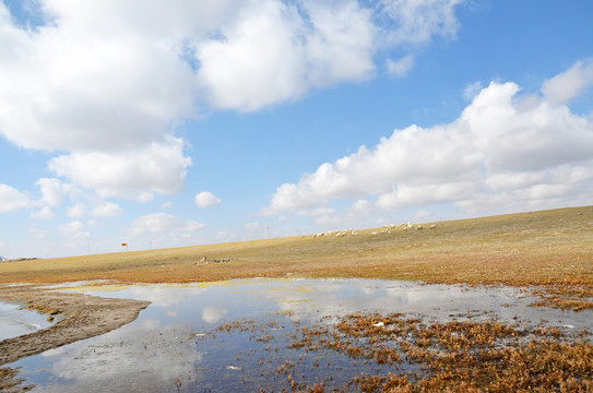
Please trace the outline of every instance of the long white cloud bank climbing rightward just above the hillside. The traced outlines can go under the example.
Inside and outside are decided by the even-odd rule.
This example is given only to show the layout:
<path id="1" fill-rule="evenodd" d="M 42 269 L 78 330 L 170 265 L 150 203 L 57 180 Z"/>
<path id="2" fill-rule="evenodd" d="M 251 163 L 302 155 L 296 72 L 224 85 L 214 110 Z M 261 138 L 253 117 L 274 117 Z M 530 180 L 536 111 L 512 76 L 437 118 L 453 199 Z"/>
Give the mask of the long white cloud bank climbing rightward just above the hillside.
<path id="1" fill-rule="evenodd" d="M 574 68 L 582 68 L 581 62 Z M 580 81 L 574 91 L 589 84 Z M 588 203 L 585 190 L 593 186 L 591 119 L 550 103 L 547 95 L 524 97 L 519 92 L 514 83 L 493 82 L 455 121 L 395 130 L 373 148 L 360 146 L 322 164 L 297 183 L 278 187 L 260 214 L 298 212 L 363 195 L 377 195 L 376 205 L 383 210 L 458 202 L 477 212 L 511 200 L 507 206 L 530 209 Z"/>

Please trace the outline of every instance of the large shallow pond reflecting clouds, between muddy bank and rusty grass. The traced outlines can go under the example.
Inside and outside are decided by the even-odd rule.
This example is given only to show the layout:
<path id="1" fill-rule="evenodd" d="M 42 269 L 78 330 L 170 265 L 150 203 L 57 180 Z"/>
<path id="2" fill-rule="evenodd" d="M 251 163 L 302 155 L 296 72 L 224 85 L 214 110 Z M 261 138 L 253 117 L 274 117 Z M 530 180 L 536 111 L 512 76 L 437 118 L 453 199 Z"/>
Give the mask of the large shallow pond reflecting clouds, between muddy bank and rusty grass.
<path id="1" fill-rule="evenodd" d="M 280 391 L 280 366 L 309 385 L 344 386 L 361 372 L 416 371 L 290 347 L 299 327 L 354 312 L 401 312 L 426 322 L 491 320 L 593 331 L 591 311 L 529 307 L 514 288 L 469 288 L 372 279 L 239 279 L 191 285 L 69 286 L 56 290 L 150 300 L 134 322 L 14 362 L 34 392 Z M 229 331 L 218 326 L 234 323 Z M 280 371 L 278 371 L 280 370 Z M 332 377 L 329 379 L 329 377 Z M 355 391 L 354 388 L 352 388 Z"/>

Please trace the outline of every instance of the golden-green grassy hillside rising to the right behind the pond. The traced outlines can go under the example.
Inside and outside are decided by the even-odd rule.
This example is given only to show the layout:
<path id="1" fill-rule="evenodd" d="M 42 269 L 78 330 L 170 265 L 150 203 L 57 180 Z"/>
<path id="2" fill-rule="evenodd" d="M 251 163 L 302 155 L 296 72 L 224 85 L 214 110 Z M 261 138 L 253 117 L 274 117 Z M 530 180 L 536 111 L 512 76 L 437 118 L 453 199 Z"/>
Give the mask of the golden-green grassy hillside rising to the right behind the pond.
<path id="1" fill-rule="evenodd" d="M 593 206 L 437 223 L 436 229 L 269 240 L 0 263 L 0 283 L 182 283 L 238 277 L 378 277 L 593 285 Z M 200 263 L 232 258 L 227 263 Z"/>

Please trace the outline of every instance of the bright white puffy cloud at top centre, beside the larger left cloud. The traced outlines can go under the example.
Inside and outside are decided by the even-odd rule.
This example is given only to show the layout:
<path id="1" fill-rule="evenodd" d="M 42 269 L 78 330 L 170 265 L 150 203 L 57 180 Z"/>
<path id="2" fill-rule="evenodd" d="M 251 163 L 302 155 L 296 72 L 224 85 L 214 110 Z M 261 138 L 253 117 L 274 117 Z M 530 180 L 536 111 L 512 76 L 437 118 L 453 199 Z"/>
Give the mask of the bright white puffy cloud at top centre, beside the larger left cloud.
<path id="1" fill-rule="evenodd" d="M 300 5 L 248 2 L 237 23 L 222 26 L 224 38 L 197 48 L 198 80 L 211 105 L 250 111 L 368 76 L 375 50 L 369 10 L 356 1 Z"/>

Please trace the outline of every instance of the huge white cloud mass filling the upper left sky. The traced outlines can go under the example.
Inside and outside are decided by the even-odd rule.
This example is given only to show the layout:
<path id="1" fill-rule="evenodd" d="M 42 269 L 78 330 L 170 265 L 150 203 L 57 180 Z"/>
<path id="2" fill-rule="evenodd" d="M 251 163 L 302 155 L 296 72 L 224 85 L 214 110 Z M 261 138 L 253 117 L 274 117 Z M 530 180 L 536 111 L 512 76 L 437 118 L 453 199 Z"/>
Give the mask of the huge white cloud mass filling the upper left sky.
<path id="1" fill-rule="evenodd" d="M 32 4 L 33 24 L 0 2 L 0 134 L 59 152 L 48 167 L 72 187 L 138 201 L 183 189 L 191 160 L 175 134 L 201 108 L 258 110 L 361 81 L 380 51 L 458 26 L 454 0 Z M 39 186 L 61 202 L 60 180 Z"/>

